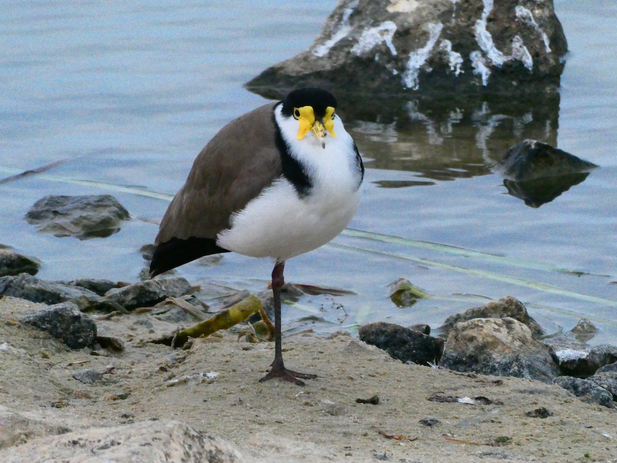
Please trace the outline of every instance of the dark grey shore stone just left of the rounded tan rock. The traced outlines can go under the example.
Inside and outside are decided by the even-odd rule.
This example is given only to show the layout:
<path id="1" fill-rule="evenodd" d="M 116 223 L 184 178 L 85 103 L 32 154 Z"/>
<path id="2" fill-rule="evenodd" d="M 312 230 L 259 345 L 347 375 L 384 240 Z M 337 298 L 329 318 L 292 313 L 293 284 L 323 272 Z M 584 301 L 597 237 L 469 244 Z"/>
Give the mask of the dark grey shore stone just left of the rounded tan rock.
<path id="1" fill-rule="evenodd" d="M 402 362 L 429 365 L 439 362 L 444 340 L 393 323 L 368 323 L 358 330 L 360 340 L 383 349 Z"/>

